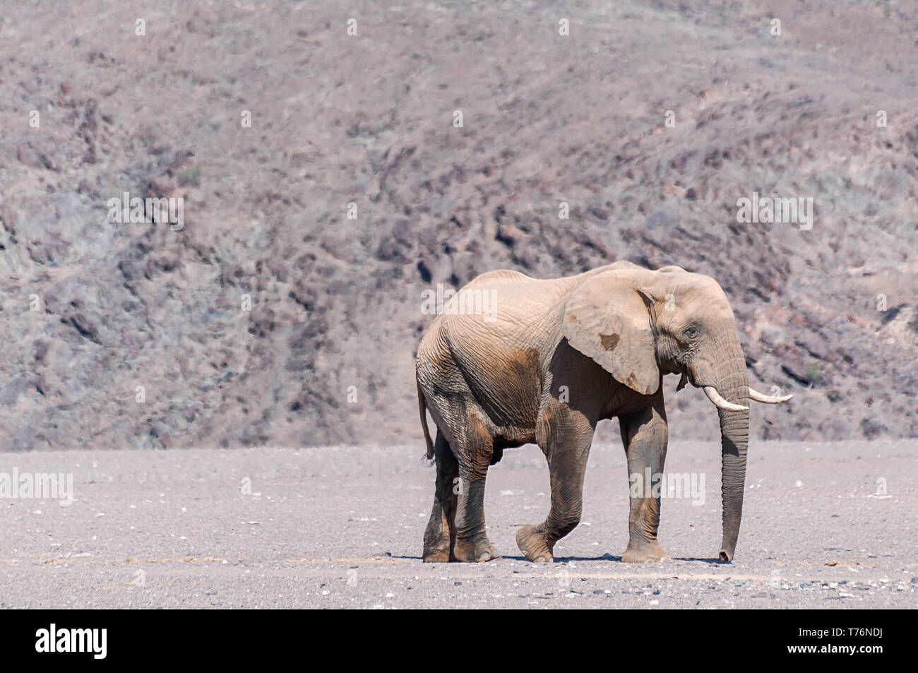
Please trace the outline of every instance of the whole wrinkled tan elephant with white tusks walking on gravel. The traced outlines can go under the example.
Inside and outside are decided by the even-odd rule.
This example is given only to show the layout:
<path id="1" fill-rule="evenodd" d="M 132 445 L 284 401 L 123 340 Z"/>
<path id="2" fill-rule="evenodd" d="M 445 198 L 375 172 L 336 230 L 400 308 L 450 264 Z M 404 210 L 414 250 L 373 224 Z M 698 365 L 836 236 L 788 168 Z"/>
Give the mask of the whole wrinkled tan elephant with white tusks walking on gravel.
<path id="1" fill-rule="evenodd" d="M 542 523 L 519 529 L 516 542 L 530 561 L 554 561 L 554 544 L 580 522 L 598 421 L 619 419 L 629 475 L 663 473 L 667 374 L 680 375 L 677 390 L 700 387 L 718 409 L 718 559 L 729 563 L 743 510 L 748 400 L 792 397 L 749 387 L 733 310 L 713 278 L 630 262 L 545 280 L 508 270 L 477 276 L 431 322 L 415 370 L 421 429 L 437 474 L 423 539 L 428 563 L 497 557 L 485 529 L 487 468 L 504 449 L 526 443 L 538 444 L 547 459 L 551 508 Z M 659 518 L 658 495 L 631 493 L 622 561 L 669 559 L 657 541 Z"/>

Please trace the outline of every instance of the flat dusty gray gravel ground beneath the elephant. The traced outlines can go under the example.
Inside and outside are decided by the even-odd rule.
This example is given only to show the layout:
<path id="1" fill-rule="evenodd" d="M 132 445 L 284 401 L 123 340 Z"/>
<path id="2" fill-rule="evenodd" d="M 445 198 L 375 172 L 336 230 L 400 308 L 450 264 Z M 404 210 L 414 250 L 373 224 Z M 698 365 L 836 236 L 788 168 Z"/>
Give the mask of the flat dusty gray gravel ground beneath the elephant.
<path id="1" fill-rule="evenodd" d="M 0 498 L 0 607 L 918 607 L 918 442 L 753 443 L 730 566 L 711 562 L 716 445 L 671 445 L 667 471 L 704 474 L 706 499 L 664 502 L 661 541 L 674 560 L 648 566 L 617 559 L 627 542 L 617 445 L 593 447 L 583 522 L 556 546 L 559 563 L 531 564 L 513 541 L 548 507 L 543 456 L 527 446 L 488 477 L 489 534 L 505 556 L 423 565 L 434 468 L 421 454 L 4 454 L 0 474 L 72 472 L 75 501 Z"/>

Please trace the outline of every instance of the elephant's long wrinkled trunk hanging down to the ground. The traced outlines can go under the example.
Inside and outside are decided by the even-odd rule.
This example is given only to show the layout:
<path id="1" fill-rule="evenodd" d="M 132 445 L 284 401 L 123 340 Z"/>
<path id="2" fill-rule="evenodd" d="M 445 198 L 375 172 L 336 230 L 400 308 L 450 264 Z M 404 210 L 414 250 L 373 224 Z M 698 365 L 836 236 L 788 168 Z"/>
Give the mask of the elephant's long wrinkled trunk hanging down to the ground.
<path id="1" fill-rule="evenodd" d="M 730 349 L 733 350 L 733 349 Z M 749 380 L 739 343 L 736 353 L 717 367 L 717 389 L 734 405 L 748 408 Z M 740 533 L 745 488 L 746 447 L 749 443 L 749 410 L 718 409 L 721 417 L 721 493 L 723 499 L 723 541 L 720 560 L 733 560 L 736 538 Z"/>

